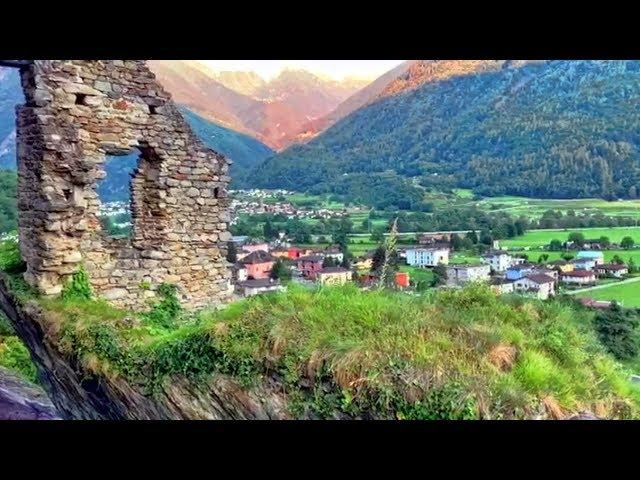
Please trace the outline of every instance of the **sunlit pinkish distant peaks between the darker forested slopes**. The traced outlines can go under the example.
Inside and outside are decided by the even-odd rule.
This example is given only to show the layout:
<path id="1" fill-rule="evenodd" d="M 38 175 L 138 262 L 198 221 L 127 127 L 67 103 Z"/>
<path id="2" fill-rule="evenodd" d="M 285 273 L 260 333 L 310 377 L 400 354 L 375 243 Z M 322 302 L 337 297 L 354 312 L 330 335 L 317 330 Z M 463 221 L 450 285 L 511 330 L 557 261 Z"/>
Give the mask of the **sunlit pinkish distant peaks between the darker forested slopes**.
<path id="1" fill-rule="evenodd" d="M 304 70 L 284 70 L 267 82 L 253 72 L 213 72 L 196 61 L 158 60 L 149 66 L 176 102 L 276 150 L 369 83 Z"/>

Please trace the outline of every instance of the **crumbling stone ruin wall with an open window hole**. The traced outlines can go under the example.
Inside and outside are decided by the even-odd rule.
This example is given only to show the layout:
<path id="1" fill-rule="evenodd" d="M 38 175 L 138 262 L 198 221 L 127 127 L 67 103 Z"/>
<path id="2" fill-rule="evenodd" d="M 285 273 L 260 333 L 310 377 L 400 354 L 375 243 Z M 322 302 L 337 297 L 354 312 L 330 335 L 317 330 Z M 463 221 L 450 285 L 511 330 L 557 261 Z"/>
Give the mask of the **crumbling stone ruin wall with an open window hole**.
<path id="1" fill-rule="evenodd" d="M 60 293 L 85 266 L 98 294 L 142 308 L 163 282 L 183 304 L 230 294 L 229 160 L 202 145 L 144 61 L 36 60 L 21 73 L 18 209 L 25 279 Z M 109 238 L 96 183 L 107 155 L 141 152 L 133 235 Z M 148 286 L 151 288 L 147 288 Z"/>

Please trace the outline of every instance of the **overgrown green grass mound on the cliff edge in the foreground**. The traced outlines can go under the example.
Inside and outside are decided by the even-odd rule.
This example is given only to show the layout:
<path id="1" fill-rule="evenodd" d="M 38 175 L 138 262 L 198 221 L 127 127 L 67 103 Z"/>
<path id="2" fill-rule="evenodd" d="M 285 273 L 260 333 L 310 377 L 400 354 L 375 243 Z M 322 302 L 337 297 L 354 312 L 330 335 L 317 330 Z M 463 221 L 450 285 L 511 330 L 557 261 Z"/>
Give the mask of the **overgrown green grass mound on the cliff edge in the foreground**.
<path id="1" fill-rule="evenodd" d="M 481 285 L 423 297 L 290 287 L 170 327 L 99 300 L 20 299 L 44 307 L 48 334 L 89 374 L 149 394 L 173 375 L 204 385 L 218 372 L 247 387 L 277 377 L 296 417 L 640 417 L 640 392 L 596 340 L 590 312 Z"/>

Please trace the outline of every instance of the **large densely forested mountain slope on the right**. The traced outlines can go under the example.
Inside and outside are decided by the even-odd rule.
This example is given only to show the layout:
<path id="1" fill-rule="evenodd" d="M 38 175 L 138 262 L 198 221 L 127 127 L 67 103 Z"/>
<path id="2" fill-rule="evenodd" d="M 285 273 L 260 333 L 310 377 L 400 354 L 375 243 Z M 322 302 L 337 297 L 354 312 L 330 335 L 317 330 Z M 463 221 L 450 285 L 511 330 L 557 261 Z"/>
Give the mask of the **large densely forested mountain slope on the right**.
<path id="1" fill-rule="evenodd" d="M 361 201 L 397 197 L 399 185 L 409 200 L 419 185 L 637 197 L 639 102 L 637 61 L 551 61 L 461 76 L 364 107 L 250 178 Z"/>

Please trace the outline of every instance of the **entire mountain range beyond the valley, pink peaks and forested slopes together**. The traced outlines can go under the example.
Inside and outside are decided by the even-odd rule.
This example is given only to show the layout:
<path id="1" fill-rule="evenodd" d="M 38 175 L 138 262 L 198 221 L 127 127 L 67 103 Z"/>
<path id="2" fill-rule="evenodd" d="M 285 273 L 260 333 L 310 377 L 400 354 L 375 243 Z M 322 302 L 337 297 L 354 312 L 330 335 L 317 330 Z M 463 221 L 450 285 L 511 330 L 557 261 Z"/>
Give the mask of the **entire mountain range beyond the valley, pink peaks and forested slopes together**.
<path id="1" fill-rule="evenodd" d="M 410 60 L 366 85 L 149 63 L 196 133 L 234 160 L 236 187 L 418 209 L 432 187 L 640 195 L 639 61 Z M 0 167 L 15 165 L 21 97 L 17 73 L 0 69 Z M 120 179 L 107 195 L 126 194 L 125 164 L 107 166 Z"/>

